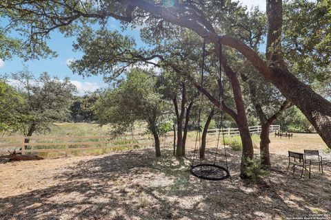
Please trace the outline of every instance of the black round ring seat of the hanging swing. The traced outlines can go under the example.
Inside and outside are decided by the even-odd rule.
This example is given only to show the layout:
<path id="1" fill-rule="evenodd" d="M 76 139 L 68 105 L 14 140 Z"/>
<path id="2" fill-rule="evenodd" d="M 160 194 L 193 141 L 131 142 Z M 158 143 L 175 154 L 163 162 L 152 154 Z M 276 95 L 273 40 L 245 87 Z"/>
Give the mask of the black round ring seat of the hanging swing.
<path id="1" fill-rule="evenodd" d="M 216 164 L 196 164 L 190 167 L 194 177 L 207 180 L 222 180 L 230 177 L 229 170 Z"/>

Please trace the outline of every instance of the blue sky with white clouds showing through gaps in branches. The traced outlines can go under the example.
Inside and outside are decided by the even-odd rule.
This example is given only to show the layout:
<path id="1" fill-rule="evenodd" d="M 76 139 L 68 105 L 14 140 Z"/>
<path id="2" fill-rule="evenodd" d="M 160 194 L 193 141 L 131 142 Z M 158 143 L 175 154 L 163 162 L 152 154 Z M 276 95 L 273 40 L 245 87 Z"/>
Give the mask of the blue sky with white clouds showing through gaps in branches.
<path id="1" fill-rule="evenodd" d="M 248 5 L 248 8 L 252 5 L 257 5 L 261 10 L 265 11 L 265 0 L 241 0 L 241 2 L 243 5 Z M 119 27 L 119 21 L 112 20 L 110 28 L 121 32 Z M 124 34 L 132 36 L 136 40 L 138 47 L 145 46 L 143 42 L 141 42 L 139 30 L 126 30 Z M 72 51 L 72 43 L 74 40 L 74 38 L 65 38 L 63 34 L 54 31 L 51 33 L 49 45 L 59 56 L 51 59 L 40 59 L 28 62 L 24 62 L 18 57 L 14 57 L 9 61 L 2 61 L 0 59 L 0 75 L 17 72 L 26 65 L 36 76 L 39 76 L 41 72 L 48 72 L 51 76 L 58 76 L 59 78 L 68 76 L 72 80 L 72 83 L 77 86 L 79 95 L 84 94 L 86 91 L 94 91 L 100 87 L 105 87 L 106 85 L 103 83 L 102 76 L 91 76 L 84 79 L 77 74 L 72 74 L 68 63 L 70 60 L 80 58 L 82 55 L 79 52 Z"/>

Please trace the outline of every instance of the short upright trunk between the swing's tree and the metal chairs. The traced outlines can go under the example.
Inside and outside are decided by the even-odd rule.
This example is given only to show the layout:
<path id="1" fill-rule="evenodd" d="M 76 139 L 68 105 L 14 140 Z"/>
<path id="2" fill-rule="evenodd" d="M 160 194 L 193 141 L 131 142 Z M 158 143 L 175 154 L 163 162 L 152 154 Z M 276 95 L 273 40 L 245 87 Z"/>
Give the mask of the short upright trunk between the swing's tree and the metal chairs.
<path id="1" fill-rule="evenodd" d="M 271 166 L 270 162 L 270 153 L 269 153 L 269 129 L 270 124 L 265 123 L 261 125 L 261 134 L 260 134 L 260 157 L 261 157 L 261 164 L 263 166 Z"/>

